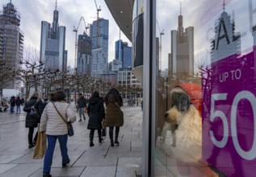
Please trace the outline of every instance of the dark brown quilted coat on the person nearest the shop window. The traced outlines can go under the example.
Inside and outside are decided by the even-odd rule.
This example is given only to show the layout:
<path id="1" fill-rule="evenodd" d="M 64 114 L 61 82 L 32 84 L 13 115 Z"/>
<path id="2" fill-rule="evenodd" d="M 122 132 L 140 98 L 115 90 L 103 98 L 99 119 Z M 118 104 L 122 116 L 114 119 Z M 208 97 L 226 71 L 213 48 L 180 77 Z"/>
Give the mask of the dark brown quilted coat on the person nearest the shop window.
<path id="1" fill-rule="evenodd" d="M 124 113 L 120 109 L 120 105 L 115 102 L 115 96 L 109 95 L 108 104 L 105 113 L 104 126 L 123 126 Z"/>

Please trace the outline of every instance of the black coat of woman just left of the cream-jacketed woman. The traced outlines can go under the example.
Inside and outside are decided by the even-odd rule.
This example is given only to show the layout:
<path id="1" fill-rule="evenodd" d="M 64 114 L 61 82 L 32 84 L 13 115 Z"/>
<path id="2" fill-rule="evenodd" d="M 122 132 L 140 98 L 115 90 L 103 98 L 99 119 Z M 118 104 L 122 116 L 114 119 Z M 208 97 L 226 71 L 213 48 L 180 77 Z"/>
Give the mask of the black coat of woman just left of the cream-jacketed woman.
<path id="1" fill-rule="evenodd" d="M 37 120 L 36 118 L 32 118 L 30 116 L 30 111 L 31 111 L 31 106 L 35 106 L 36 105 L 36 99 L 30 99 L 29 101 L 27 101 L 27 103 L 24 105 L 23 111 L 27 112 L 26 115 L 26 122 L 25 122 L 25 126 L 26 128 L 32 128 L 32 127 L 36 127 L 37 123 L 39 123 L 39 120 Z"/>

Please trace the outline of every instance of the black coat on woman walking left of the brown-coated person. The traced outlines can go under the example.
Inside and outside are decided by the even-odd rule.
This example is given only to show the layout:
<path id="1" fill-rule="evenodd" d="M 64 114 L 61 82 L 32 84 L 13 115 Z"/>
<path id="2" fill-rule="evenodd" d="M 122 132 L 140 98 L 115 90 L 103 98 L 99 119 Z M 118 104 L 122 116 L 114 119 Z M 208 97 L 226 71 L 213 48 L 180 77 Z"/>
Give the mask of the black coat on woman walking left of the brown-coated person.
<path id="1" fill-rule="evenodd" d="M 103 100 L 100 98 L 93 98 L 89 101 L 87 113 L 89 116 L 89 122 L 87 129 L 102 129 L 101 121 L 104 117 L 104 105 Z"/>

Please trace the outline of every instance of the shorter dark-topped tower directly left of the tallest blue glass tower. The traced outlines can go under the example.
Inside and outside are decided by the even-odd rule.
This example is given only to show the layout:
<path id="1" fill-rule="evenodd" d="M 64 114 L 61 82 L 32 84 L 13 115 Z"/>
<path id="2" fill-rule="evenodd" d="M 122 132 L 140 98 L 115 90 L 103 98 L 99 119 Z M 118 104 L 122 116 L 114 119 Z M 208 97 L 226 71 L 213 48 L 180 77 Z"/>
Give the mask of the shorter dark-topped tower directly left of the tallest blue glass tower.
<path id="1" fill-rule="evenodd" d="M 91 45 L 91 39 L 85 32 L 78 35 L 78 75 L 90 76 Z"/>

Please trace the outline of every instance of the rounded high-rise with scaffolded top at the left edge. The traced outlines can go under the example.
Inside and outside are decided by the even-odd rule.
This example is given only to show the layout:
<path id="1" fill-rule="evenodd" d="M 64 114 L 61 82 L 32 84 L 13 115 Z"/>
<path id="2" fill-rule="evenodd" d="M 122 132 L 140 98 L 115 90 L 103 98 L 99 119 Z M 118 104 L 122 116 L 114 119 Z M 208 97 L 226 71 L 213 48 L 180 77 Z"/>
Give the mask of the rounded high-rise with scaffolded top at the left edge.
<path id="1" fill-rule="evenodd" d="M 20 26 L 20 14 L 11 3 L 2 6 L 0 14 L 0 95 L 3 88 L 15 88 L 10 78 L 11 71 L 21 68 L 23 61 L 23 31 Z M 2 97 L 1 97 L 2 98 Z"/>

